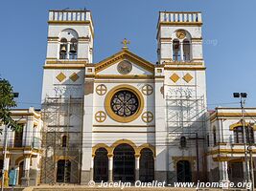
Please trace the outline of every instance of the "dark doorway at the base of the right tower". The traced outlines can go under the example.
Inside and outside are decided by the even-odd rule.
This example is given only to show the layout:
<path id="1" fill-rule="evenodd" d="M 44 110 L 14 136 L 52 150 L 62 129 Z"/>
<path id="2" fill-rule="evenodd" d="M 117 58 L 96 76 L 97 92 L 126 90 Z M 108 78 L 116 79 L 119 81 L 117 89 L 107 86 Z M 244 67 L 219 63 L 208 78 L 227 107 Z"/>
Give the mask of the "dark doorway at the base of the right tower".
<path id="1" fill-rule="evenodd" d="M 178 182 L 191 182 L 191 165 L 188 160 L 179 160 L 176 163 L 176 175 Z"/>

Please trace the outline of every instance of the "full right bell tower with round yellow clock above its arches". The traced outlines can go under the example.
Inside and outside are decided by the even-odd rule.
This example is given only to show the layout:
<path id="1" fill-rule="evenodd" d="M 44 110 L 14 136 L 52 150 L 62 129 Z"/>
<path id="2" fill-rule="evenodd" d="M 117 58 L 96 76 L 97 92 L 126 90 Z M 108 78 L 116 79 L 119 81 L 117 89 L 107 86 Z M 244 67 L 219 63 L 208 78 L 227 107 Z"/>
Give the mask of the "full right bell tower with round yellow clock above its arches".
<path id="1" fill-rule="evenodd" d="M 203 159 L 198 160 L 204 152 L 206 122 L 201 26 L 201 12 L 159 12 L 155 74 L 162 76 L 157 82 L 163 96 L 155 99 L 156 118 L 157 115 L 160 118 L 155 122 L 155 144 L 161 145 L 156 147 L 156 155 L 162 158 L 156 158 L 155 168 L 159 178 L 168 171 L 170 182 L 178 180 L 180 172 L 173 164 L 179 159 L 191 166 L 197 164 L 190 169 L 197 172 L 197 176 L 192 174 L 190 179 L 200 180 L 205 166 Z M 167 138 L 166 144 L 162 143 L 163 137 Z"/>

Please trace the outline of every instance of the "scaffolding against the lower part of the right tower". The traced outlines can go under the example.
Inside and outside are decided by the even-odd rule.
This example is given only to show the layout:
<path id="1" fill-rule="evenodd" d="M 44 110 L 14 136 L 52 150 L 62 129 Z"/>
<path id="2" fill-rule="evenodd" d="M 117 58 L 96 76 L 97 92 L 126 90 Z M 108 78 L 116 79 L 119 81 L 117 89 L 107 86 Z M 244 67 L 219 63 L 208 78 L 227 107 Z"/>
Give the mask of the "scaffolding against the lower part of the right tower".
<path id="1" fill-rule="evenodd" d="M 196 92 L 196 91 L 195 91 Z M 204 96 L 192 96 L 188 90 L 173 90 L 166 96 L 166 124 L 168 129 L 168 150 L 176 149 L 175 157 L 196 161 L 192 166 L 196 174 L 194 180 L 203 180 L 202 172 L 206 172 L 206 161 L 202 151 L 205 150 L 204 135 L 206 130 L 206 104 Z M 181 137 L 185 137 L 186 146 L 182 148 Z M 202 148 L 202 150 L 201 150 Z M 201 153 L 200 153 L 201 152 Z M 170 157 L 174 154 L 171 152 Z M 172 162 L 171 162 L 172 161 Z M 169 160 L 169 166 L 174 165 Z M 184 172 L 181 172 L 183 174 Z M 201 174 L 202 173 L 202 174 Z M 177 174 L 171 174 L 169 180 L 174 180 Z"/>

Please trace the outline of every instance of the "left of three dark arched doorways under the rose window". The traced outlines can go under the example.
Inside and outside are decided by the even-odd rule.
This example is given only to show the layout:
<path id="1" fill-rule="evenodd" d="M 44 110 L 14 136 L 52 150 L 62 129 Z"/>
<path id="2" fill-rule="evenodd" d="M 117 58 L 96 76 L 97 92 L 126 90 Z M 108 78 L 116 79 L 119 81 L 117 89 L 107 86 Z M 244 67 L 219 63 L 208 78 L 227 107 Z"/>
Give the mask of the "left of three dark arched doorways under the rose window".
<path id="1" fill-rule="evenodd" d="M 108 159 L 107 159 L 107 151 L 105 148 L 99 148 L 95 152 L 94 157 L 94 178 L 93 180 L 96 182 L 101 182 L 102 180 L 108 180 Z"/>

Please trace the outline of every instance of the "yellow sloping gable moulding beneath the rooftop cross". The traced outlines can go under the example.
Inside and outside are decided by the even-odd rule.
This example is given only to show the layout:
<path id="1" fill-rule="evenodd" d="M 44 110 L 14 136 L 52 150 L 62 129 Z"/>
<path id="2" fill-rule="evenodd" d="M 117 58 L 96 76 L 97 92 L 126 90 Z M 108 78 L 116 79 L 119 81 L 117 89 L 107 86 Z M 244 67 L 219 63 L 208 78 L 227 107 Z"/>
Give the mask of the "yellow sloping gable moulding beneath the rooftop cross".
<path id="1" fill-rule="evenodd" d="M 122 60 L 128 60 L 132 64 L 137 65 L 139 68 L 146 70 L 151 74 L 154 72 L 154 65 L 151 62 L 134 53 L 129 52 L 127 49 L 124 49 L 121 52 L 115 53 L 97 63 L 95 65 L 95 73 L 98 74 Z"/>

